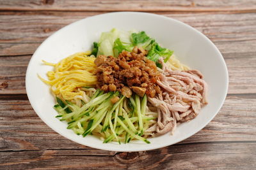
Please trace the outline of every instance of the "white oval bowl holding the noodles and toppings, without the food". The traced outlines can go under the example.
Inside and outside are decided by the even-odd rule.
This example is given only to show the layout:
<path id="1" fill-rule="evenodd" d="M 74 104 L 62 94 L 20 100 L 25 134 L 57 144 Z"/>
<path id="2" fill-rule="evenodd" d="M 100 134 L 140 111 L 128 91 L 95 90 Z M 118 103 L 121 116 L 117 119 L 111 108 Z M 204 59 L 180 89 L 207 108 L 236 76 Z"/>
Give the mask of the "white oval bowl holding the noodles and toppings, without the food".
<path id="1" fill-rule="evenodd" d="M 42 60 L 59 62 L 68 55 L 92 49 L 93 41 L 99 41 L 101 32 L 112 28 L 129 31 L 136 29 L 145 31 L 149 36 L 166 48 L 174 50 L 178 59 L 192 69 L 204 74 L 209 85 L 209 104 L 202 108 L 198 117 L 177 127 L 173 136 L 149 139 L 150 144 L 132 141 L 129 144 L 104 144 L 93 136 L 82 138 L 67 129 L 67 123 L 60 122 L 49 86 L 38 79 L 37 74 L 44 78 L 51 66 L 42 64 Z M 26 73 L 26 90 L 29 101 L 38 116 L 54 131 L 82 145 L 117 152 L 135 152 L 153 150 L 173 145 L 182 141 L 207 125 L 220 110 L 228 89 L 228 71 L 225 61 L 216 46 L 201 32 L 193 27 L 172 18 L 150 13 L 117 12 L 84 18 L 67 25 L 47 38 L 38 47 L 28 65 Z M 49 141 L 51 142 L 51 141 Z"/>

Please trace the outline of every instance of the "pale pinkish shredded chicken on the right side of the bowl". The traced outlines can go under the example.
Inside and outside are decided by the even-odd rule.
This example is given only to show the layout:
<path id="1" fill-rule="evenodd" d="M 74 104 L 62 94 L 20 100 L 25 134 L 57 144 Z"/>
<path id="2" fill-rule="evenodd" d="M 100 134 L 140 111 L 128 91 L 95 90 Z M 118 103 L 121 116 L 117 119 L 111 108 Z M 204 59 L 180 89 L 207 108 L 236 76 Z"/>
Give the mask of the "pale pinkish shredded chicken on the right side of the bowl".
<path id="1" fill-rule="evenodd" d="M 207 83 L 197 70 L 172 71 L 160 59 L 163 65 L 157 85 L 163 93 L 148 97 L 148 102 L 157 108 L 157 124 L 148 131 L 157 134 L 173 132 L 180 122 L 195 118 L 202 106 L 207 104 Z M 156 135 L 157 135 L 156 134 Z"/>

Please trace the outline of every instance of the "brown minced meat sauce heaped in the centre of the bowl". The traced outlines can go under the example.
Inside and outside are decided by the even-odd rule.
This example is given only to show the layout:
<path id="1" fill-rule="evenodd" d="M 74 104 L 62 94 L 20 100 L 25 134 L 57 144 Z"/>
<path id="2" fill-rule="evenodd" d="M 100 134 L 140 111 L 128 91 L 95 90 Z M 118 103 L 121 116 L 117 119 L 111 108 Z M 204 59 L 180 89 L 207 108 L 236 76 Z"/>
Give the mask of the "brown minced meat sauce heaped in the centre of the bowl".
<path id="1" fill-rule="evenodd" d="M 159 72 L 155 62 L 145 57 L 147 51 L 134 47 L 132 52 L 123 51 L 117 58 L 100 55 L 95 59 L 97 87 L 109 92 L 118 90 L 131 97 L 132 90 L 139 96 L 154 97 L 161 90 L 156 84 Z"/>

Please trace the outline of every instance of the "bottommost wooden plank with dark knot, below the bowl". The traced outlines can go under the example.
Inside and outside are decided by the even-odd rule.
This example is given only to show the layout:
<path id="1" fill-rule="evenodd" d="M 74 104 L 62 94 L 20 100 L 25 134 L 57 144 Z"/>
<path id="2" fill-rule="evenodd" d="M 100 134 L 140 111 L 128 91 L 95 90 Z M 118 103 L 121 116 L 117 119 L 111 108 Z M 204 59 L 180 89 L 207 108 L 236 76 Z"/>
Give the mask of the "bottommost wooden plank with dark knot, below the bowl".
<path id="1" fill-rule="evenodd" d="M 17 167 L 19 169 L 255 169 L 255 146 L 256 143 L 191 143 L 185 146 L 175 145 L 132 153 L 108 153 L 92 148 L 24 150 L 0 152 L 0 167 L 1 169 Z"/>

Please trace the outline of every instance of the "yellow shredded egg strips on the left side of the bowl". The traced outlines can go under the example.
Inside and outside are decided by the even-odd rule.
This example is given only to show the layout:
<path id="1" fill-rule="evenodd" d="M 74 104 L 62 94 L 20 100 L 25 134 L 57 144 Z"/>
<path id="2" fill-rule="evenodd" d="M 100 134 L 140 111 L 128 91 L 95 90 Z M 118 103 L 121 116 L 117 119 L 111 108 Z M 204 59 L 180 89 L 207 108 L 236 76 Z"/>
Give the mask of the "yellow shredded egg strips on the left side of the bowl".
<path id="1" fill-rule="evenodd" d="M 44 62 L 48 66 L 54 66 L 54 71 L 48 71 L 49 80 L 39 78 L 51 85 L 52 92 L 63 99 L 71 101 L 75 96 L 83 96 L 79 87 L 95 86 L 97 83 L 95 57 L 88 57 L 90 52 L 79 52 L 61 60 L 57 64 Z"/>

